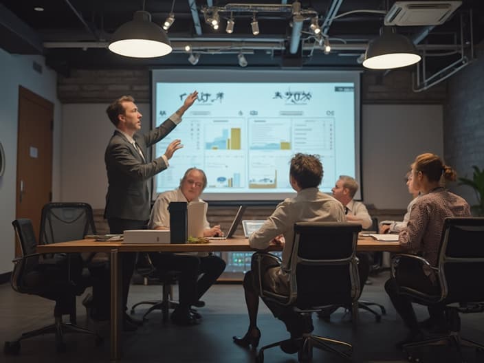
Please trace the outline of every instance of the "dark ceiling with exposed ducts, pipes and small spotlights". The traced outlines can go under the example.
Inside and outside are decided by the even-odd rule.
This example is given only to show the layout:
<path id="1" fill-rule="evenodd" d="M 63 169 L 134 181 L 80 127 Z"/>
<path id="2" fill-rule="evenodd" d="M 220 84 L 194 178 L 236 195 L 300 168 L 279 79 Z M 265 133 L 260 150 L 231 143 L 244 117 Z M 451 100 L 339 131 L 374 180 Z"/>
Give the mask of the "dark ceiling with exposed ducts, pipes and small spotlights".
<path id="1" fill-rule="evenodd" d="M 250 54 L 247 67 L 362 69 L 358 59 L 386 20 L 426 58 L 423 73 L 433 74 L 458 61 L 462 48 L 472 59 L 470 43 L 484 39 L 483 13 L 478 10 L 474 25 L 466 20 L 463 36 L 453 14 L 468 13 L 476 3 L 481 1 L 146 1 L 153 23 L 162 26 L 166 19 L 176 19 L 168 30 L 173 52 L 139 60 L 111 54 L 107 45 L 115 30 L 133 19 L 140 3 L 62 0 L 55 9 L 35 12 L 39 4 L 34 0 L 6 0 L 0 5 L 0 46 L 11 53 L 45 54 L 47 64 L 59 72 L 190 65 L 185 47 L 201 54 L 203 67 L 239 67 L 232 54 L 242 52 Z M 415 21 L 424 25 L 412 25 Z M 474 38 L 468 35 L 470 28 Z"/>

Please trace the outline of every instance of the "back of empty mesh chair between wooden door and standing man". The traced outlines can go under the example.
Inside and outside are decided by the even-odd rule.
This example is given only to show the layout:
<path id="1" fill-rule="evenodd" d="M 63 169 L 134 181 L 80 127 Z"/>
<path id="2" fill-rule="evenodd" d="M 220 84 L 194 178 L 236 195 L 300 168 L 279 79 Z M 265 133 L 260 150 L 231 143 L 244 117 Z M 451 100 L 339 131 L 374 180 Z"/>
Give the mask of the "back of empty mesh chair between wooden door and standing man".
<path id="1" fill-rule="evenodd" d="M 96 234 L 88 203 L 47 203 L 42 208 L 39 244 L 83 239 L 87 234 Z"/>

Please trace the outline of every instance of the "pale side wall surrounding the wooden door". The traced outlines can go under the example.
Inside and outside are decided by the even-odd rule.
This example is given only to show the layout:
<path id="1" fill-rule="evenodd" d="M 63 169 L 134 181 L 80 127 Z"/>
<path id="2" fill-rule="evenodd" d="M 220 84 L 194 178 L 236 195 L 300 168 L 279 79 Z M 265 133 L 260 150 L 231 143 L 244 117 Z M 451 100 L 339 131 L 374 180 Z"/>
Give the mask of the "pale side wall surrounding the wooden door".
<path id="1" fill-rule="evenodd" d="M 43 66 L 42 74 L 34 71 L 33 61 Z M 0 65 L 0 142 L 6 159 L 5 173 L 0 177 L 0 274 L 3 274 L 12 270 L 15 253 L 14 230 L 11 223 L 15 219 L 19 85 L 54 103 L 54 198 L 58 197 L 61 174 L 58 142 L 61 135 L 61 104 L 56 96 L 56 73 L 45 66 L 43 57 L 12 55 L 0 49 Z"/>

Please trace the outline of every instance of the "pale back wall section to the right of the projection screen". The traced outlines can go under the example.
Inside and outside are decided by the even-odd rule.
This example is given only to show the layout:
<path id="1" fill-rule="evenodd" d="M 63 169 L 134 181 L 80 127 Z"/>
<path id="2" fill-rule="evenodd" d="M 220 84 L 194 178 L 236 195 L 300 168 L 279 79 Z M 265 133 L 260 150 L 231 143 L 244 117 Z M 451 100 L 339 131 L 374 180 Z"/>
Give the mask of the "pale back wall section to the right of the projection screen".
<path id="1" fill-rule="evenodd" d="M 362 107 L 362 184 L 365 203 L 406 208 L 404 177 L 415 156 L 443 157 L 441 105 L 368 104 Z"/>

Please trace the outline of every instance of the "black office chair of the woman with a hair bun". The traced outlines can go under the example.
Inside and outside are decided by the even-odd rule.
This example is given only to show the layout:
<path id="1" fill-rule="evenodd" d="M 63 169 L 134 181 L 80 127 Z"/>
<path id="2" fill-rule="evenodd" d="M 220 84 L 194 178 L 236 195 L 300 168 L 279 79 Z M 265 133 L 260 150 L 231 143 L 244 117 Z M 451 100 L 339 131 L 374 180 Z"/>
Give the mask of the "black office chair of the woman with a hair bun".
<path id="1" fill-rule="evenodd" d="M 484 345 L 462 338 L 459 334 L 459 313 L 484 311 L 484 218 L 446 218 L 443 225 L 437 267 L 426 259 L 410 254 L 398 254 L 392 259 L 391 278 L 395 279 L 399 294 L 410 296 L 421 305 L 445 305 L 448 334 L 420 342 L 404 345 L 410 360 L 419 361 L 415 349 L 430 346 L 454 347 L 463 362 L 461 347 L 472 347 L 484 352 Z M 415 264 L 415 268 L 426 266 L 434 272 L 440 293 L 428 294 L 419 291 L 400 273 L 404 265 Z M 406 269 L 408 270 L 408 269 Z M 402 270 L 403 271 L 403 270 Z M 406 273 L 408 276 L 408 272 Z M 407 280 L 407 281 L 404 281 Z M 414 351 L 414 353 L 412 353 Z"/>

